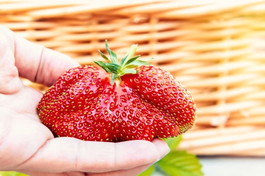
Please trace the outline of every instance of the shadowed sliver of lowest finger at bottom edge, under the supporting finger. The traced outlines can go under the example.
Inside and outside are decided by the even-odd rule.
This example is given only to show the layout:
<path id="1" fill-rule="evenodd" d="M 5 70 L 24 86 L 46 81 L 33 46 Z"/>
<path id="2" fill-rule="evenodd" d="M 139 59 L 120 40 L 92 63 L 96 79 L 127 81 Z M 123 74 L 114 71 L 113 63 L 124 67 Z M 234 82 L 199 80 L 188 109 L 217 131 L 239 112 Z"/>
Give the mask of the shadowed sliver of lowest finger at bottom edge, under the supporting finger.
<path id="1" fill-rule="evenodd" d="M 142 166 L 138 166 L 131 169 L 126 170 L 117 170 L 117 171 L 111 171 L 111 172 L 104 172 L 104 173 L 89 173 L 89 176 L 120 176 L 120 175 L 126 175 L 126 176 L 134 176 L 138 175 L 139 173 L 146 170 L 148 167 L 150 167 L 152 164 L 146 164 Z"/>

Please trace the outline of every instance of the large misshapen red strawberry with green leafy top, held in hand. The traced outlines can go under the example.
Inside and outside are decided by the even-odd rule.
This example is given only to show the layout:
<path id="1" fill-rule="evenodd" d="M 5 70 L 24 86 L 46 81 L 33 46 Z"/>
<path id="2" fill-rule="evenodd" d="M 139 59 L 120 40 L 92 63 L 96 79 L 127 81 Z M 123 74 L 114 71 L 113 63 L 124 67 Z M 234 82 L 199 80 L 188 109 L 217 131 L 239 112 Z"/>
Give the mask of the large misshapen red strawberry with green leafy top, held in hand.
<path id="1" fill-rule="evenodd" d="M 133 57 L 132 45 L 121 62 L 110 50 L 107 62 L 65 72 L 43 95 L 41 122 L 58 136 L 119 142 L 168 138 L 195 121 L 190 93 L 167 71 Z"/>

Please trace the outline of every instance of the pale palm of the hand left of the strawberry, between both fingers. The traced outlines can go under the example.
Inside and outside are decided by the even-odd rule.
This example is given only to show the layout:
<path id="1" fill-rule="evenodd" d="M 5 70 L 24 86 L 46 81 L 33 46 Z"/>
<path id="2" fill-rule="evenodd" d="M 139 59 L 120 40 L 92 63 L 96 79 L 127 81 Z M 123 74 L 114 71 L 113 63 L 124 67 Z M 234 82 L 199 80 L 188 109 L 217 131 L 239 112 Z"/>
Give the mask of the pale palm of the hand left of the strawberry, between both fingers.
<path id="1" fill-rule="evenodd" d="M 19 78 L 15 39 L 5 28 L 0 29 L 0 36 L 0 170 L 12 170 L 23 168 L 54 136 L 36 112 L 42 94 L 24 86 Z M 22 68 L 23 74 L 30 75 L 28 71 Z"/>

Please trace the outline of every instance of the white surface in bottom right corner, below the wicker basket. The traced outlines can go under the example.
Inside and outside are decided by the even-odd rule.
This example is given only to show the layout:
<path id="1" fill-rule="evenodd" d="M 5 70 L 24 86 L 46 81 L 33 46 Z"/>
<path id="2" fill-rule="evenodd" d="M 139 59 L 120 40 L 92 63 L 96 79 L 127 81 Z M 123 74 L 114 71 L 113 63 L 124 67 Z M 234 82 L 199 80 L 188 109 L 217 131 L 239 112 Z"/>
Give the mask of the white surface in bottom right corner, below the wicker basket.
<path id="1" fill-rule="evenodd" d="M 200 157 L 205 176 L 264 176 L 265 158 Z"/>

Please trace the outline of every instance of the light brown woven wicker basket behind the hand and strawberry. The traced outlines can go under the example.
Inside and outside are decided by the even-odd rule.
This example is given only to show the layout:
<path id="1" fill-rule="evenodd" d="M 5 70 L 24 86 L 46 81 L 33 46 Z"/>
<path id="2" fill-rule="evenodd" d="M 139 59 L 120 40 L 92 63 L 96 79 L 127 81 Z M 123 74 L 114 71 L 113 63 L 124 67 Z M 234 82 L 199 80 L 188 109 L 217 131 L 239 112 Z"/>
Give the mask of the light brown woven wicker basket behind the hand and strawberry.
<path id="1" fill-rule="evenodd" d="M 81 64 L 99 59 L 105 39 L 118 56 L 138 43 L 197 103 L 181 148 L 265 156 L 265 1 L 0 0 L 0 23 Z"/>

